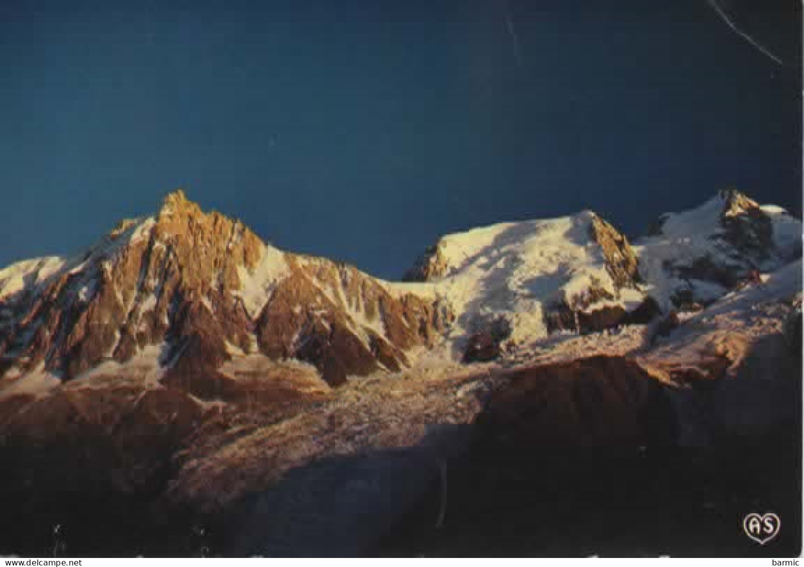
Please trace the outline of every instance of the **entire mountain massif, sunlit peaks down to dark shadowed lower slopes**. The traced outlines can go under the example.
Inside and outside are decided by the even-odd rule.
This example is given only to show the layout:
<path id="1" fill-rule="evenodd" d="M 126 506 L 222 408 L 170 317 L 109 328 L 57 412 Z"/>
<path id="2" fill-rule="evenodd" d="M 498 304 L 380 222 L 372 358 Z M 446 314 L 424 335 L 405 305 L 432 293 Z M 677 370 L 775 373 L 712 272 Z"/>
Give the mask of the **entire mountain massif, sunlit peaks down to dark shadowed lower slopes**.
<path id="1" fill-rule="evenodd" d="M 623 467 L 678 517 L 736 513 L 755 496 L 709 495 L 701 458 L 728 468 L 707 452 L 723 439 L 740 470 L 790 453 L 740 443 L 801 429 L 800 249 L 797 219 L 724 192 L 633 243 L 589 211 L 449 235 L 426 281 L 395 284 L 171 194 L 84 255 L 0 271 L 0 499 L 31 511 L 0 551 L 41 555 L 59 524 L 80 555 L 304 553 L 311 532 L 364 553 L 448 460 L 448 541 L 493 532 L 523 494 L 583 520 L 601 500 L 578 487 L 633 498 Z M 677 471 L 683 498 L 665 494 Z M 784 505 L 767 501 L 794 521 Z"/>

